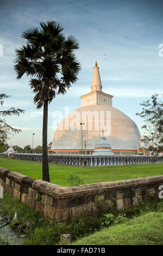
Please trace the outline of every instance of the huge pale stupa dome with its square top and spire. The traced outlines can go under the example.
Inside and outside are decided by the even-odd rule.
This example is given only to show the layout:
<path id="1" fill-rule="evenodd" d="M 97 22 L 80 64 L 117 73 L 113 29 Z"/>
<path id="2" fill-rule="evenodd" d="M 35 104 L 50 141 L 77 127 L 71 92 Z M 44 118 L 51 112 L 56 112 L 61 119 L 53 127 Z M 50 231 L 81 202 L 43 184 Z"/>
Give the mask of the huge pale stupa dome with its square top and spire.
<path id="1" fill-rule="evenodd" d="M 96 77 L 92 79 L 91 92 L 80 97 L 82 107 L 70 113 L 58 125 L 51 151 L 58 151 L 58 154 L 78 154 L 82 148 L 83 136 L 83 150 L 86 141 L 87 154 L 93 153 L 104 127 L 106 143 L 111 145 L 114 153 L 137 153 L 139 129 L 126 114 L 112 107 L 113 96 L 102 92 L 99 71 L 95 71 L 97 68 L 95 65 L 93 76 Z"/>

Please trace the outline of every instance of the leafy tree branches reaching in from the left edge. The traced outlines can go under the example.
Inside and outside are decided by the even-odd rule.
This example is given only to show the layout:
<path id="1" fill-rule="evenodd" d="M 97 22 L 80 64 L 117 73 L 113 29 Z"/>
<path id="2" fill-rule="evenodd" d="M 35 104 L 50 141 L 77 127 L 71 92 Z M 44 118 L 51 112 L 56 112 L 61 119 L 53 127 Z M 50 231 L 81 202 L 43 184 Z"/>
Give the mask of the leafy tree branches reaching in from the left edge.
<path id="1" fill-rule="evenodd" d="M 4 104 L 3 99 L 7 99 L 8 97 L 10 96 L 6 94 L 0 94 L 1 106 L 3 106 Z M 11 116 L 11 115 L 17 115 L 19 117 L 19 115 L 23 112 L 24 110 L 20 108 L 14 108 L 14 107 L 11 107 L 10 109 L 5 111 L 0 111 L 0 143 L 7 142 L 7 139 L 9 139 L 10 136 L 13 136 L 15 133 L 21 132 L 20 129 L 16 129 L 10 126 L 9 124 L 7 124 L 4 117 Z"/>

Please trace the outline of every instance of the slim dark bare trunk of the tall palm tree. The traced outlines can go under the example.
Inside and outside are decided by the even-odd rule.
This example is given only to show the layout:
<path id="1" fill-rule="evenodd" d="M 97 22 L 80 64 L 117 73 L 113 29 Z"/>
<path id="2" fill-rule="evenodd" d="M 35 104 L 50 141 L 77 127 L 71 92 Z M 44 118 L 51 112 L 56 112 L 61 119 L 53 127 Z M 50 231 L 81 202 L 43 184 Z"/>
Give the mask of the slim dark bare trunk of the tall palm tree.
<path id="1" fill-rule="evenodd" d="M 43 104 L 43 126 L 42 126 L 42 180 L 50 182 L 48 151 L 47 151 L 47 122 L 48 103 Z"/>

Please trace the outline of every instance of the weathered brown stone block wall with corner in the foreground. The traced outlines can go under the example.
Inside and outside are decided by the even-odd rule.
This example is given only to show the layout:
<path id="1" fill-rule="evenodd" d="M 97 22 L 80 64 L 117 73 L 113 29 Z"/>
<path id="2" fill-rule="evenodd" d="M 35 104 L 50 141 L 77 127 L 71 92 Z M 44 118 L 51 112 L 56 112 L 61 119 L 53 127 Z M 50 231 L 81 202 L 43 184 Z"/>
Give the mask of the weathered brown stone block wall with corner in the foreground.
<path id="1" fill-rule="evenodd" d="M 122 210 L 124 206 L 147 202 L 150 196 L 159 193 L 163 175 L 61 187 L 0 168 L 0 185 L 4 191 L 46 217 L 64 222 L 67 218 L 91 216 L 98 212 L 99 205 Z"/>

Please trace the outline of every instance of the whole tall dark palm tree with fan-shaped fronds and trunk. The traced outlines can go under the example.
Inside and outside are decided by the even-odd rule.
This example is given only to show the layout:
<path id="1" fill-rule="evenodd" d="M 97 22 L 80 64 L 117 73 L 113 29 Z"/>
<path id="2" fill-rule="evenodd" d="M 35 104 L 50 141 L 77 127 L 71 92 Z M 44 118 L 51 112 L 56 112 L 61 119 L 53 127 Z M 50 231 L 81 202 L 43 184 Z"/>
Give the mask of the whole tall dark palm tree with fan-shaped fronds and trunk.
<path id="1" fill-rule="evenodd" d="M 42 179 L 50 181 L 47 154 L 48 103 L 58 94 L 65 94 L 77 81 L 80 71 L 74 50 L 79 43 L 74 36 L 67 39 L 61 33 L 64 28 L 55 21 L 41 22 L 40 28 L 29 28 L 22 33 L 27 40 L 16 49 L 14 69 L 17 80 L 24 74 L 30 77 L 29 86 L 35 93 L 36 108 L 43 106 L 42 128 Z"/>

